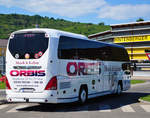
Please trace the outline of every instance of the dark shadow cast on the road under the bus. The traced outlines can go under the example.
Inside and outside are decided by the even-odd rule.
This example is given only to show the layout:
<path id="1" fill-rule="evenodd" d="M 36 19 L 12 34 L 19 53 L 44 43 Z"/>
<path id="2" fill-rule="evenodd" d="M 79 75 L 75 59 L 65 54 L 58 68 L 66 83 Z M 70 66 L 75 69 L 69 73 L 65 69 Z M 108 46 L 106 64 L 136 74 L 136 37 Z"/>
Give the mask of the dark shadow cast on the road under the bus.
<path id="1" fill-rule="evenodd" d="M 34 111 L 34 112 L 81 112 L 81 111 L 98 111 L 101 106 L 110 106 L 111 109 L 117 109 L 121 106 L 138 103 L 138 99 L 150 93 L 124 92 L 121 96 L 107 95 L 90 99 L 86 104 L 79 103 L 67 104 L 42 104 L 19 109 L 19 111 Z M 108 108 L 104 108 L 107 110 Z M 103 110 L 103 109 L 101 109 Z"/>

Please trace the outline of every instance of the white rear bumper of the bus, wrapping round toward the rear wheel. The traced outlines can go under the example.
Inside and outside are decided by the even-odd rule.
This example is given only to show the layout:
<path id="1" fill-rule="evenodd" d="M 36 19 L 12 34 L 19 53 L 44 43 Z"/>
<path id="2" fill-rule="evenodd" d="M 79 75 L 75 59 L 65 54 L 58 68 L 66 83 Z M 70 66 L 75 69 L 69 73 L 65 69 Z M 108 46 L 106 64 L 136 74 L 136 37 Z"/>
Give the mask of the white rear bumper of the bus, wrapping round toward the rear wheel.
<path id="1" fill-rule="evenodd" d="M 58 98 L 56 91 L 45 91 L 43 93 L 15 93 L 7 91 L 6 98 L 8 102 L 23 103 L 70 103 L 78 101 L 78 97 Z"/>

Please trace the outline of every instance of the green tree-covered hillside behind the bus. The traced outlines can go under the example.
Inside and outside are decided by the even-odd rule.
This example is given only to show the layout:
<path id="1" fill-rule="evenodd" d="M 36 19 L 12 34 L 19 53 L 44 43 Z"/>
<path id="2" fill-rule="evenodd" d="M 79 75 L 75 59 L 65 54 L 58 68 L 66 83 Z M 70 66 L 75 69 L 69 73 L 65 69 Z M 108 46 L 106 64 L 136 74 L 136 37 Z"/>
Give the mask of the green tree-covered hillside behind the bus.
<path id="1" fill-rule="evenodd" d="M 110 29 L 110 26 L 103 25 L 103 23 L 97 25 L 41 17 L 39 15 L 0 14 L 0 39 L 8 38 L 11 32 L 19 29 L 35 28 L 36 24 L 38 24 L 40 28 L 60 29 L 63 31 L 84 34 L 86 36 Z"/>

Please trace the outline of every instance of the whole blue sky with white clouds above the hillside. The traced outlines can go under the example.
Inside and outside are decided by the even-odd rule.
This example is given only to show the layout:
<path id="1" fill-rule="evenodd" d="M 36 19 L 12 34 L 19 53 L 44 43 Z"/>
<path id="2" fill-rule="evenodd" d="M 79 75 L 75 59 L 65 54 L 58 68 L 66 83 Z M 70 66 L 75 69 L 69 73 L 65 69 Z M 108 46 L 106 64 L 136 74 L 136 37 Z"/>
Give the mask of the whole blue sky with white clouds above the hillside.
<path id="1" fill-rule="evenodd" d="M 111 25 L 150 20 L 150 0 L 0 0 L 0 14 L 10 13 Z"/>

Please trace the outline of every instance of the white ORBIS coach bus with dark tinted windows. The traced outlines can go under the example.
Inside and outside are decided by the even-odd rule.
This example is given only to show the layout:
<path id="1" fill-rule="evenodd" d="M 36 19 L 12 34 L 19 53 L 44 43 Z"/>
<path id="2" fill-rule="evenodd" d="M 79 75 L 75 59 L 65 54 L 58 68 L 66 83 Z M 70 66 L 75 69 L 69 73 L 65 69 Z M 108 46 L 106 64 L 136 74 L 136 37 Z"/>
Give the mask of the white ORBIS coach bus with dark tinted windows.
<path id="1" fill-rule="evenodd" d="M 6 53 L 9 102 L 69 103 L 130 88 L 124 47 L 54 29 L 13 32 Z"/>

